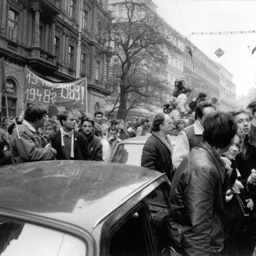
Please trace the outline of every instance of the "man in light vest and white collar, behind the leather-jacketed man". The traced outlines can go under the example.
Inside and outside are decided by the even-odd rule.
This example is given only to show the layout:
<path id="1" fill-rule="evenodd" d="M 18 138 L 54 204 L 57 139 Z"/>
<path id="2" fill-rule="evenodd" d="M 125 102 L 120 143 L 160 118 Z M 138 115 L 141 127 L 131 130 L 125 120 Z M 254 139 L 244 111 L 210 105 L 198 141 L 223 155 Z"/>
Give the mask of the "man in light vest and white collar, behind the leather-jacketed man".
<path id="1" fill-rule="evenodd" d="M 184 128 L 178 135 L 172 156 L 172 163 L 175 169 L 179 167 L 180 162 L 188 155 L 189 151 L 203 141 L 205 117 L 214 111 L 215 108 L 212 103 L 207 101 L 201 102 L 196 107 L 196 122 Z"/>

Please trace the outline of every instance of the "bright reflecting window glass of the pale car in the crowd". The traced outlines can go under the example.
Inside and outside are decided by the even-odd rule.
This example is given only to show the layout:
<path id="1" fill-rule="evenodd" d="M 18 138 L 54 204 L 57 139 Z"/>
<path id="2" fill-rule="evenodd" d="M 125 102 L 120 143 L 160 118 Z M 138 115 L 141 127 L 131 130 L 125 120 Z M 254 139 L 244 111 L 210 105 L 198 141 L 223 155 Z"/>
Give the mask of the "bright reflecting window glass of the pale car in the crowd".
<path id="1" fill-rule="evenodd" d="M 141 155 L 144 144 L 119 144 L 112 162 L 141 166 Z"/>

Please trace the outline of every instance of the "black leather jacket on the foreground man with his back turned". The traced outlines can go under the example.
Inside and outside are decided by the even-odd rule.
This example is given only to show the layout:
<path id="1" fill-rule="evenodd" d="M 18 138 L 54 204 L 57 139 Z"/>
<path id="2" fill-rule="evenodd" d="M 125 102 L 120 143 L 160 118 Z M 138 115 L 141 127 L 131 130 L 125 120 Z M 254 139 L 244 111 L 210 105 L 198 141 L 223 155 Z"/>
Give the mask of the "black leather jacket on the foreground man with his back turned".
<path id="1" fill-rule="evenodd" d="M 170 190 L 168 232 L 172 239 L 180 236 L 180 243 L 175 239 L 173 243 L 181 247 L 186 255 L 205 256 L 210 255 L 209 249 L 214 252 L 223 248 L 225 232 L 221 222 L 225 220 L 224 169 L 211 147 L 202 143 L 184 157 L 175 171 Z M 214 220 L 211 220 L 212 212 Z M 209 227 L 208 223 L 214 228 Z M 205 228 L 197 232 L 196 227 L 200 225 L 205 225 Z M 195 232 L 193 236 L 191 231 Z"/>

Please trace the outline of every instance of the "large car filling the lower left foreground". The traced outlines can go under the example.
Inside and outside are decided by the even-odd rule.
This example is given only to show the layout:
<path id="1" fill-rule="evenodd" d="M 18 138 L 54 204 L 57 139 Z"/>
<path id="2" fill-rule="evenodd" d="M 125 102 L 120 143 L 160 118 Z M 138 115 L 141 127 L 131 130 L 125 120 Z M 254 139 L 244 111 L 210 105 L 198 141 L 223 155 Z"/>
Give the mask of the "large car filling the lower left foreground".
<path id="1" fill-rule="evenodd" d="M 170 183 L 147 168 L 42 161 L 0 168 L 2 256 L 165 255 Z"/>

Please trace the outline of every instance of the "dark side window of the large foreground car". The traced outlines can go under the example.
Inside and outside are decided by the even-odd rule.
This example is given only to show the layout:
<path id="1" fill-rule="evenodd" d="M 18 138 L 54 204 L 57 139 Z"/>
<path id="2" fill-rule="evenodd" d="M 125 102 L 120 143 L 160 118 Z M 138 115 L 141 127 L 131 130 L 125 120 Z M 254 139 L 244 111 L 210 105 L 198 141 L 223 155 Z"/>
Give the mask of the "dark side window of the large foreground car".
<path id="1" fill-rule="evenodd" d="M 109 256 L 148 256 L 152 241 L 148 231 L 149 219 L 145 208 L 129 214 L 116 225 L 109 237 Z M 151 245 L 150 245 L 151 244 Z"/>

